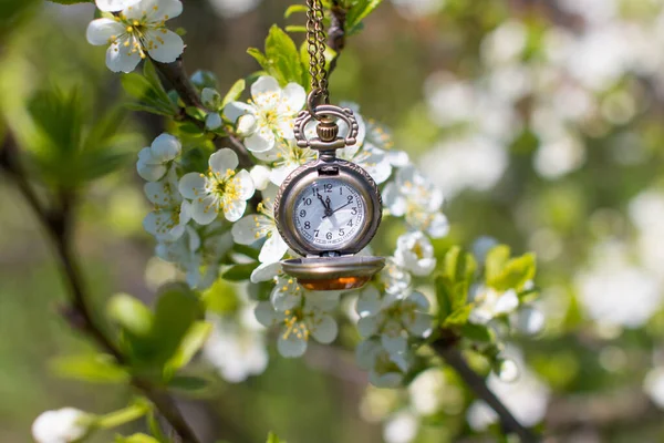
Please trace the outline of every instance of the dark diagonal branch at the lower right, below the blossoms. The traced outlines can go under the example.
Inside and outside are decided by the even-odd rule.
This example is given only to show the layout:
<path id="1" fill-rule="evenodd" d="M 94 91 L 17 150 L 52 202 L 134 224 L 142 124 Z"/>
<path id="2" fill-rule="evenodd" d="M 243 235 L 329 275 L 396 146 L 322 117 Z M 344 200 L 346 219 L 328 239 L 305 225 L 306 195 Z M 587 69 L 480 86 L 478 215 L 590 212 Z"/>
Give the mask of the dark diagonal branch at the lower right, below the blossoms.
<path id="1" fill-rule="evenodd" d="M 438 340 L 433 343 L 436 352 L 459 374 L 475 395 L 484 400 L 500 419 L 504 430 L 508 433 L 515 433 L 521 439 L 521 443 L 537 443 L 540 437 L 523 426 L 502 402 L 487 387 L 485 380 L 479 377 L 464 360 L 464 357 L 453 344 L 447 341 Z"/>

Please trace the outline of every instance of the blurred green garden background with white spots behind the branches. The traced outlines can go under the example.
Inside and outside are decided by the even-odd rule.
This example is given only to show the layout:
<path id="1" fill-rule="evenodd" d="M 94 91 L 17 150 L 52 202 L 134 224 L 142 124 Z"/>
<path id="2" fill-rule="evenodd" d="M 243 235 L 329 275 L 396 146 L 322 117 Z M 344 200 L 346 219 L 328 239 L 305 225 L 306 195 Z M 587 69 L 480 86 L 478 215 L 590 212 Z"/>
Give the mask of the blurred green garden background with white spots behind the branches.
<path id="1" fill-rule="evenodd" d="M 262 47 L 272 23 L 303 20 L 283 19 L 287 0 L 184 3 L 174 23 L 187 30 L 187 69 L 215 72 L 221 90 L 257 70 L 246 49 Z M 549 387 L 551 441 L 664 441 L 664 415 L 652 400 L 664 403 L 664 388 L 643 389 L 646 374 L 664 365 L 663 7 L 385 0 L 349 39 L 332 76 L 333 101 L 359 103 L 364 116 L 392 127 L 395 146 L 448 194 L 452 234 L 440 245 L 470 247 L 490 236 L 538 254 L 547 328 L 519 346 Z M 80 87 L 95 115 L 128 101 L 120 75 L 104 66 L 105 49 L 85 41 L 93 13 L 92 4 L 0 1 L 2 121 L 25 124 L 27 100 L 53 85 Z M 141 225 L 148 205 L 134 161 L 164 127 L 142 113 L 125 125 L 135 148 L 121 172 L 85 195 L 77 223 L 76 247 L 100 305 L 120 291 L 149 302 L 155 291 L 145 274 L 154 244 Z M 0 442 L 22 443 L 44 410 L 104 412 L 131 392 L 49 370 L 51 358 L 90 344 L 59 316 L 56 264 L 3 177 L 0 208 Z M 291 361 L 271 347 L 270 357 L 262 375 L 219 380 L 209 398 L 181 401 L 203 435 L 260 442 L 273 430 L 290 443 L 382 441 L 380 423 L 361 413 L 365 374 L 352 370 L 350 351 L 313 349 Z M 443 427 L 427 422 L 418 441 L 450 441 L 450 430 L 466 429 L 463 409 L 450 411 L 437 419 Z"/>

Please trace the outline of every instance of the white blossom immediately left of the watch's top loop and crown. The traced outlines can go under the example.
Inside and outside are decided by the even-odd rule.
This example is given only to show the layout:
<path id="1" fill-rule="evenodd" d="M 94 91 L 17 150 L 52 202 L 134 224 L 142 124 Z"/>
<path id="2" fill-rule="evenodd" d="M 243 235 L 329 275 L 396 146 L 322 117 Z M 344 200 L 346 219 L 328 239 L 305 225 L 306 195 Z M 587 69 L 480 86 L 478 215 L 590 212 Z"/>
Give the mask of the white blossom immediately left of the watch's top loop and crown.
<path id="1" fill-rule="evenodd" d="M 294 117 L 307 100 L 302 86 L 289 83 L 282 89 L 277 79 L 263 75 L 251 85 L 251 99 L 230 102 L 224 110 L 226 119 L 237 122 L 247 150 L 264 153 L 274 147 L 277 137 L 294 137 Z"/>

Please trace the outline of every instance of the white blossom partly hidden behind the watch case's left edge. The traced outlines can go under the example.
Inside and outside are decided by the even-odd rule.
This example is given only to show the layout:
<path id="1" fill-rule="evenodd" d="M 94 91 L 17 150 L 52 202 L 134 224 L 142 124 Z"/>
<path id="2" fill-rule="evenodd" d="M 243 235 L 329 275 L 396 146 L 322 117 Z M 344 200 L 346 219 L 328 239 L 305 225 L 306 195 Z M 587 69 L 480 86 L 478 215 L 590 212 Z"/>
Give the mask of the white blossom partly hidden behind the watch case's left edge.
<path id="1" fill-rule="evenodd" d="M 263 192 L 263 200 L 258 204 L 258 213 L 248 215 L 232 225 L 232 237 L 240 245 L 252 245 L 264 238 L 258 260 L 274 262 L 281 260 L 288 251 L 288 245 L 281 238 L 274 220 L 274 195 L 277 188 L 270 186 Z"/>

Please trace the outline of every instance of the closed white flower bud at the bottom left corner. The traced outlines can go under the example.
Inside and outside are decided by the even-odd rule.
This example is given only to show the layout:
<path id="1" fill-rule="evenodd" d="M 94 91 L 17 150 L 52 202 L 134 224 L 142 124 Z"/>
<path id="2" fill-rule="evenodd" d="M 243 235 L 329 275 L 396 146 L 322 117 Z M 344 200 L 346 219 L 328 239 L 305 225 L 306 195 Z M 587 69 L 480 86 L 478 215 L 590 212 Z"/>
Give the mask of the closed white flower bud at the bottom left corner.
<path id="1" fill-rule="evenodd" d="M 83 439 L 92 424 L 91 416 L 74 408 L 46 411 L 32 423 L 37 443 L 70 443 Z"/>

